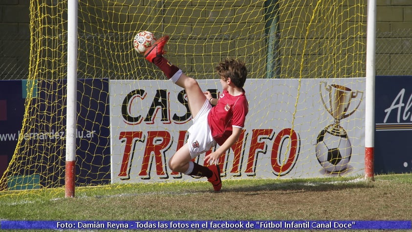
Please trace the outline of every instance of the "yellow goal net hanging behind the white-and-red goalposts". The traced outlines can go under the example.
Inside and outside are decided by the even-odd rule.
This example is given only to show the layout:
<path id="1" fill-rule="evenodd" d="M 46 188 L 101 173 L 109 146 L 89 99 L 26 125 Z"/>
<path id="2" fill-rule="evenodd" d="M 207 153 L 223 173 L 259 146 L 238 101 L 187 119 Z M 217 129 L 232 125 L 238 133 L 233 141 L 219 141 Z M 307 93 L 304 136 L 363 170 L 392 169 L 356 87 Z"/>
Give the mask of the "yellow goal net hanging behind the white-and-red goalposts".
<path id="1" fill-rule="evenodd" d="M 187 101 L 134 51 L 144 30 L 169 35 L 168 60 L 216 97 L 216 64 L 247 64 L 249 114 L 221 157 L 223 179 L 362 173 L 366 4 L 79 0 L 76 186 L 191 179 L 167 166 L 192 124 Z M 31 0 L 30 30 L 24 116 L 1 190 L 65 184 L 67 0 Z"/>

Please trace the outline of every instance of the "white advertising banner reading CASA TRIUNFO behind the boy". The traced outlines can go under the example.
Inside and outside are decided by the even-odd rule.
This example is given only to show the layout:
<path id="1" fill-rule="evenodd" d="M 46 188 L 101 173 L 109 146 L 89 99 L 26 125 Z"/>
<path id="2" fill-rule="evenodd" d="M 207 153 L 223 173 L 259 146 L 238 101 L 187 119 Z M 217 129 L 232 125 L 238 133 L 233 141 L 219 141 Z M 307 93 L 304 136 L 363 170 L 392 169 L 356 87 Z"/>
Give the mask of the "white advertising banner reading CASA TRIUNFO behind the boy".
<path id="1" fill-rule="evenodd" d="M 219 80 L 199 85 L 221 91 Z M 184 90 L 164 80 L 113 80 L 109 88 L 112 183 L 192 180 L 167 165 L 192 125 Z M 250 79 L 244 89 L 249 113 L 220 159 L 223 179 L 363 174 L 364 78 Z M 204 156 L 195 162 L 204 165 Z"/>

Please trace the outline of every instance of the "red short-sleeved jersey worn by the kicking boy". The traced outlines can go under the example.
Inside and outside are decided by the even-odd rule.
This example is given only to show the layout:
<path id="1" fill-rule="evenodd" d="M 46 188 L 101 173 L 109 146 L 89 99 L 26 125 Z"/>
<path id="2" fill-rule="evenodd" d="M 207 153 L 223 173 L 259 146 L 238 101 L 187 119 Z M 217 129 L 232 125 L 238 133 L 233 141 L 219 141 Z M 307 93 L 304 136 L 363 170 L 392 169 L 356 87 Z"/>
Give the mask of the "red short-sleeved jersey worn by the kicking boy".
<path id="1" fill-rule="evenodd" d="M 218 145 L 222 145 L 232 134 L 232 127 L 243 128 L 249 105 L 243 91 L 239 96 L 232 96 L 224 90 L 215 107 L 209 112 L 207 120 L 212 136 Z"/>

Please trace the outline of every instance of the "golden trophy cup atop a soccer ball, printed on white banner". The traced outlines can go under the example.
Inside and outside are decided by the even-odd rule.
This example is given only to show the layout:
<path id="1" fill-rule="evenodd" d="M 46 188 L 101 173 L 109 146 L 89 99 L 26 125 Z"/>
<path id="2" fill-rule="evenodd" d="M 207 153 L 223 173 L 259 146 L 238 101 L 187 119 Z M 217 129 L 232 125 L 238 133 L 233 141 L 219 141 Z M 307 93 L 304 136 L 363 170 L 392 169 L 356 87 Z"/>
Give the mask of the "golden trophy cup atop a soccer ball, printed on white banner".
<path id="1" fill-rule="evenodd" d="M 325 103 L 322 94 L 322 85 L 329 93 L 328 104 Z M 361 105 L 363 92 L 350 88 L 325 82 L 320 83 L 320 95 L 322 104 L 327 112 L 334 118 L 334 124 L 328 125 L 323 129 L 316 140 L 316 157 L 319 164 L 329 172 L 341 172 L 347 169 L 347 165 L 352 154 L 352 146 L 347 136 L 346 130 L 339 125 L 339 122 L 352 115 Z M 349 105 L 352 100 L 358 99 L 358 105 L 350 112 Z"/>

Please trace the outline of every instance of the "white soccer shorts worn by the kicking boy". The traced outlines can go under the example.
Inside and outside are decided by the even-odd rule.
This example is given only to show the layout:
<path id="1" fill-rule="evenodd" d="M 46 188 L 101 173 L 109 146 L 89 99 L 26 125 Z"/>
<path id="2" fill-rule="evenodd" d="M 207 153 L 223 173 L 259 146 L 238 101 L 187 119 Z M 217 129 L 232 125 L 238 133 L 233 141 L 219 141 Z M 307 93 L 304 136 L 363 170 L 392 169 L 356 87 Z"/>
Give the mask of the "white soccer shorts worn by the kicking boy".
<path id="1" fill-rule="evenodd" d="M 192 119 L 193 125 L 188 129 L 188 145 L 192 159 L 216 146 L 216 142 L 212 137 L 212 131 L 207 122 L 207 115 L 211 108 L 212 105 L 210 105 L 209 101 L 205 101 L 199 113 Z"/>

